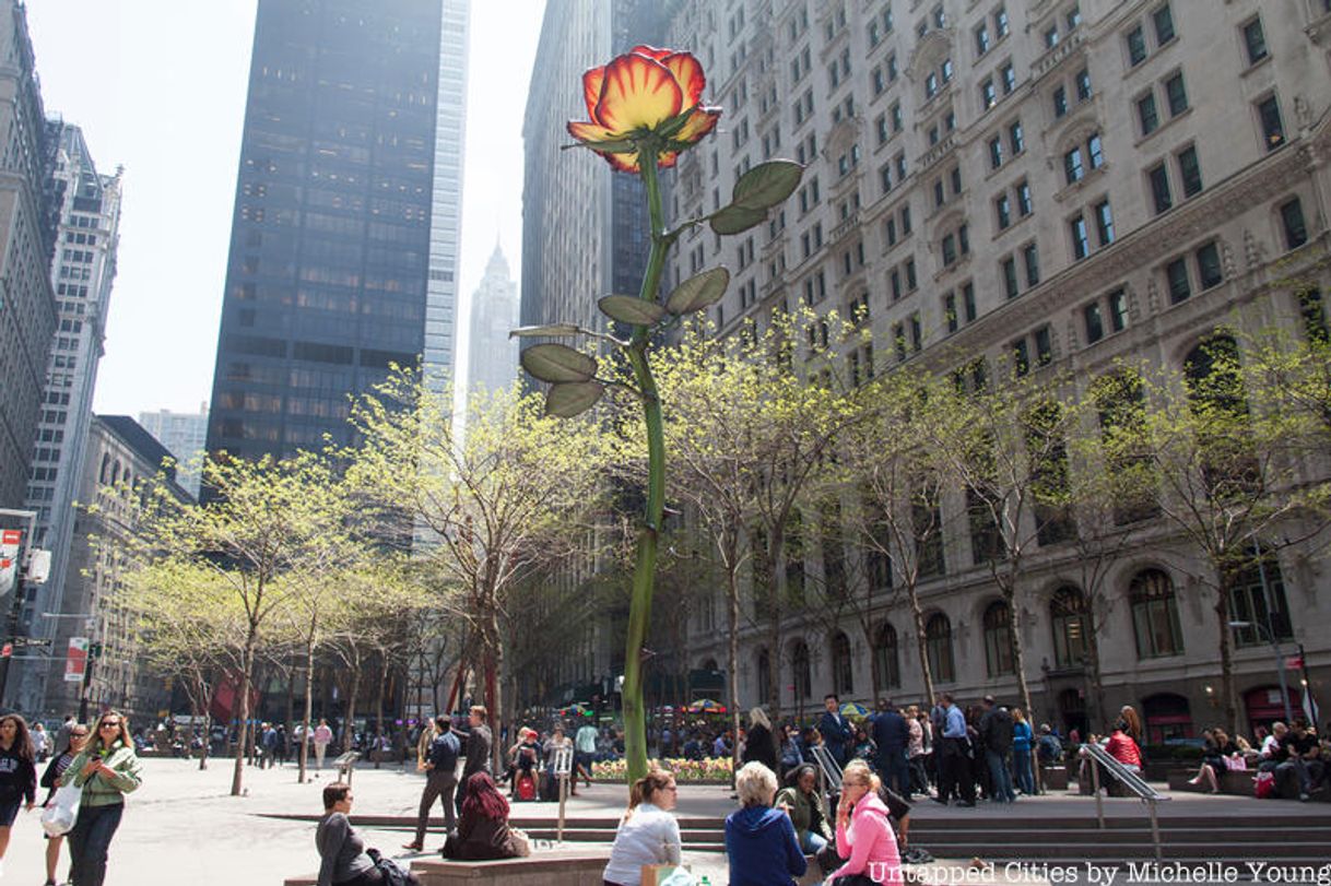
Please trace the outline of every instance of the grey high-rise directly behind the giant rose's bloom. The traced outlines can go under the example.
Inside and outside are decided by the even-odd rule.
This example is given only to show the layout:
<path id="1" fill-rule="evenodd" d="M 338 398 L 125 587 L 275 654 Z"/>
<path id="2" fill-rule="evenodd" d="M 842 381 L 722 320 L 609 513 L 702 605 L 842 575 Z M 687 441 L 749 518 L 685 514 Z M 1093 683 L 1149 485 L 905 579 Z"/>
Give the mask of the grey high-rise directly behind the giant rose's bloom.
<path id="1" fill-rule="evenodd" d="M 523 326 L 571 322 L 604 331 L 596 299 L 638 294 L 650 247 L 642 182 L 612 173 L 591 152 L 563 150 L 570 141 L 564 124 L 587 116 L 583 72 L 638 44 L 658 44 L 664 11 L 650 0 L 546 4 L 522 126 Z M 531 342 L 523 339 L 524 346 Z M 622 670 L 623 632 L 616 623 L 627 613 L 596 611 L 594 596 L 582 592 L 596 568 L 592 561 L 570 565 L 555 580 L 568 605 L 552 609 L 568 621 L 576 652 L 528 666 L 534 677 L 539 672 L 523 686 L 528 696 L 555 688 L 551 698 L 588 698 L 594 685 L 603 693 L 603 682 Z"/>

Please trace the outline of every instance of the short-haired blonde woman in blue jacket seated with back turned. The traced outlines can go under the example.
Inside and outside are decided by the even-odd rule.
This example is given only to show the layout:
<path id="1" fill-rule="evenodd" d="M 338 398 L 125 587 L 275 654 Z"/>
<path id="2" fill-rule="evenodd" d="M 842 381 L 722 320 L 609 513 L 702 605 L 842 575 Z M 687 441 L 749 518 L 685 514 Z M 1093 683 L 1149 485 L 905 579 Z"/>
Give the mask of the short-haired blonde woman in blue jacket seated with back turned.
<path id="1" fill-rule="evenodd" d="M 744 764 L 735 776 L 735 790 L 743 806 L 725 818 L 731 886 L 791 886 L 808 863 L 791 817 L 772 809 L 776 773 L 760 762 Z"/>

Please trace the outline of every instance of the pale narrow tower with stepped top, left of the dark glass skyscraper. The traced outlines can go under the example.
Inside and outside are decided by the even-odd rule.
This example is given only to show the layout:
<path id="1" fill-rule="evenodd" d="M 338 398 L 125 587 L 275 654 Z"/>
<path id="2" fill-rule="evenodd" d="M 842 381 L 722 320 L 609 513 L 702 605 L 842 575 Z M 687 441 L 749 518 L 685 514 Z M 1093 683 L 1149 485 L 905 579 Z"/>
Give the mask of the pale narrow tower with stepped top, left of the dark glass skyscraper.
<path id="1" fill-rule="evenodd" d="M 37 547 L 51 551 L 51 573 L 24 609 L 28 633 L 53 636 L 55 625 L 36 613 L 60 608 L 69 576 L 75 504 L 92 422 L 92 398 L 105 338 L 106 309 L 116 278 L 121 173 L 97 172 L 83 130 L 51 121 L 47 137 L 57 146 L 51 172 L 59 194 L 57 245 L 51 266 L 57 326 L 45 372 L 45 398 L 32 448 L 27 507 L 37 512 Z M 40 669 L 24 668 L 20 698 L 40 709 Z"/>

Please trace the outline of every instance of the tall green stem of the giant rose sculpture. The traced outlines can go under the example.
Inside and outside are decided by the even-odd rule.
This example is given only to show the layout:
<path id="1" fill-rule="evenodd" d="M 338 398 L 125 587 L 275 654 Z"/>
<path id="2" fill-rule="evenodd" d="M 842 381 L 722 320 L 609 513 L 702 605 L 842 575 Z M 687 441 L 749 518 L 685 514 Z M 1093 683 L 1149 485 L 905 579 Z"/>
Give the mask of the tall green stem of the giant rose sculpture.
<path id="1" fill-rule="evenodd" d="M 662 214 L 662 190 L 656 174 L 656 149 L 643 146 L 638 154 L 639 174 L 647 189 L 647 212 L 652 226 L 652 249 L 638 297 L 656 302 L 666 253 L 672 239 L 666 235 Z M 647 423 L 647 507 L 638 531 L 638 557 L 634 565 L 634 589 L 628 604 L 628 636 L 624 643 L 624 757 L 628 782 L 647 774 L 647 710 L 643 706 L 643 659 L 647 629 L 652 616 L 652 589 L 656 579 L 656 544 L 666 506 L 666 431 L 656 379 L 647 362 L 651 343 L 646 326 L 634 327 L 626 353 L 643 398 L 643 420 Z"/>

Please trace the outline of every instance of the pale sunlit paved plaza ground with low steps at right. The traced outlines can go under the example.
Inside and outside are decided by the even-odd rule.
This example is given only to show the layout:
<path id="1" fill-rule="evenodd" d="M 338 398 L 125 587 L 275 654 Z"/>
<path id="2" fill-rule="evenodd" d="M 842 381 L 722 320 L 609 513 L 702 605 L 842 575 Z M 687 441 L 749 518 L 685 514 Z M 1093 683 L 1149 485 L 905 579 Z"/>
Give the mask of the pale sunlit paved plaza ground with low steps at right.
<path id="1" fill-rule="evenodd" d="M 314 851 L 314 825 L 290 815 L 318 815 L 322 812 L 321 788 L 333 778 L 331 772 L 314 773 L 311 784 L 295 782 L 295 768 L 258 770 L 246 766 L 246 796 L 230 797 L 232 765 L 226 760 L 212 761 L 209 769 L 198 772 L 197 762 L 152 758 L 144 761 L 144 785 L 129 797 L 124 823 L 112 843 L 108 886 L 234 886 L 237 882 L 281 883 L 285 877 L 309 874 L 317 870 Z M 423 780 L 414 772 L 398 766 L 383 769 L 361 768 L 353 778 L 357 817 L 409 817 L 415 814 Z M 570 801 L 570 814 L 580 818 L 615 817 L 623 812 L 624 789 L 619 785 L 594 785 Z M 1323 814 L 1318 804 L 1314 810 Z M 735 808 L 728 789 L 708 785 L 685 785 L 680 792 L 679 814 L 684 817 L 721 817 Z M 1057 819 L 1066 815 L 1094 815 L 1094 801 L 1067 794 L 1024 798 L 1022 812 L 1038 810 L 1038 815 Z M 1141 817 L 1142 806 L 1134 800 L 1109 800 L 1106 814 Z M 515 817 L 554 818 L 555 804 L 520 804 Z M 1291 804 L 1255 801 L 1242 797 L 1206 797 L 1177 794 L 1161 806 L 1162 815 L 1205 814 L 1266 815 L 1288 813 Z M 435 808 L 438 812 L 438 806 Z M 942 809 L 930 802 L 916 805 L 917 821 L 936 815 L 956 815 L 957 809 Z M 966 814 L 1002 817 L 1004 809 L 986 809 L 981 804 Z M 399 846 L 410 834 L 398 827 L 359 826 L 371 846 L 386 854 L 407 857 Z M 442 834 L 433 831 L 426 846 L 437 849 Z M 579 845 L 579 853 L 608 853 L 607 845 Z M 13 838 L 5 858 L 4 882 L 43 882 L 44 841 L 37 812 L 20 813 L 15 822 Z M 547 851 L 543 849 L 543 851 Z M 944 859 L 945 865 L 960 866 L 970 859 Z M 715 886 L 727 882 L 725 857 L 716 853 L 685 853 L 696 874 L 705 874 Z M 60 873 L 68 870 L 61 859 Z M 1004 882 L 1001 874 L 997 882 Z M 1042 883 L 1038 875 L 1022 875 L 1014 882 Z"/>

